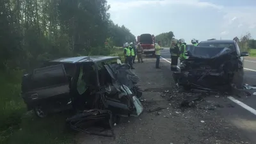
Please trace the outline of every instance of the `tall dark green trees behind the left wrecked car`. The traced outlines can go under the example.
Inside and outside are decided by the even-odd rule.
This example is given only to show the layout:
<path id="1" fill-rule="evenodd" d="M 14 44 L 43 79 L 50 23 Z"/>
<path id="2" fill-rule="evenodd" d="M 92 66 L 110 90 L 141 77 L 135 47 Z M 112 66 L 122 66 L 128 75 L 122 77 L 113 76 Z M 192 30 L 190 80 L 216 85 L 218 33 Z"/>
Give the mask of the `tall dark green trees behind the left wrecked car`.
<path id="1" fill-rule="evenodd" d="M 106 55 L 113 45 L 136 40 L 111 21 L 109 8 L 106 0 L 1 0 L 1 70 L 63 56 Z"/>

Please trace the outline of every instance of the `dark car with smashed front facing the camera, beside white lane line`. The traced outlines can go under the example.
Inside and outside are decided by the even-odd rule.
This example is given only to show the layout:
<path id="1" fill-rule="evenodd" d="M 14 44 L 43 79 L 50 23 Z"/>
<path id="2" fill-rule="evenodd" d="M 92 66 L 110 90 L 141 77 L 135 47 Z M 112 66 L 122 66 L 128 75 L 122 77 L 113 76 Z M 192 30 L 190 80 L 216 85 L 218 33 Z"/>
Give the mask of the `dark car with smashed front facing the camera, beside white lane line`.
<path id="1" fill-rule="evenodd" d="M 186 90 L 228 90 L 243 87 L 243 57 L 234 40 L 207 40 L 189 47 L 188 59 L 180 61 L 173 78 Z"/>

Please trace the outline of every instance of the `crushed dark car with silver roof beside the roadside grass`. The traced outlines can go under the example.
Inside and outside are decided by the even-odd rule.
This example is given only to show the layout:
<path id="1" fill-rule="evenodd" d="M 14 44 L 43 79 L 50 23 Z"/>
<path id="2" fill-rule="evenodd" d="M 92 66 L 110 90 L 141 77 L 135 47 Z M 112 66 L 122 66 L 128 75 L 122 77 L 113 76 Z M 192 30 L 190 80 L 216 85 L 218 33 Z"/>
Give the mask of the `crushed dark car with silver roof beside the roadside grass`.
<path id="1" fill-rule="evenodd" d="M 41 118 L 67 109 L 138 116 L 143 111 L 138 80 L 116 56 L 60 58 L 22 77 L 22 98 Z"/>

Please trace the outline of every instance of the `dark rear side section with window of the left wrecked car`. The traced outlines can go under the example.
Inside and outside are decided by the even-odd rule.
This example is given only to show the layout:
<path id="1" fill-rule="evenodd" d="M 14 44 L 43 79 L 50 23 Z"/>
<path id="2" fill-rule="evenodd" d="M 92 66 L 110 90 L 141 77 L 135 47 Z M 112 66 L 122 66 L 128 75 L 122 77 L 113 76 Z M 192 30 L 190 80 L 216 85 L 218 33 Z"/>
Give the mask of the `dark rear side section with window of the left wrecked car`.
<path id="1" fill-rule="evenodd" d="M 23 77 L 22 86 L 22 98 L 28 109 L 38 104 L 48 105 L 58 100 L 70 99 L 69 82 L 63 65 L 35 69 L 31 76 Z"/>

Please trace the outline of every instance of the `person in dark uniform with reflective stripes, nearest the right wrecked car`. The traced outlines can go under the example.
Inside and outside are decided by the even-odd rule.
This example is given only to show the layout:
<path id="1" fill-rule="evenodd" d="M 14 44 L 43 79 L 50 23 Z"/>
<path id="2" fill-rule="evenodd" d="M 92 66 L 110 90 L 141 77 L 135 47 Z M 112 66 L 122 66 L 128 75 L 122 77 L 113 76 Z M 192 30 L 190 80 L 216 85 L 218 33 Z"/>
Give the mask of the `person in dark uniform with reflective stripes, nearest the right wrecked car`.
<path id="1" fill-rule="evenodd" d="M 177 71 L 178 58 L 179 58 L 179 46 L 175 38 L 172 39 L 170 53 L 171 53 L 171 59 L 172 59 L 171 70 L 175 72 Z"/>

